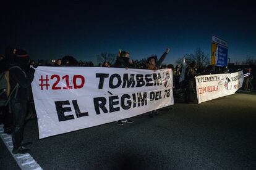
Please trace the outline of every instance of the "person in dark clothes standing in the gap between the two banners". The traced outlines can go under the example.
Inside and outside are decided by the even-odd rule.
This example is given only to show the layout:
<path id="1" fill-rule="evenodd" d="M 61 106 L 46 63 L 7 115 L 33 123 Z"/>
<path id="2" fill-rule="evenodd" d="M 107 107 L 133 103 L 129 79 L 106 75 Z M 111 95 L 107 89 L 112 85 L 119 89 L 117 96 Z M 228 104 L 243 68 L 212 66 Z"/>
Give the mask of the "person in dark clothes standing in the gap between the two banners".
<path id="1" fill-rule="evenodd" d="M 185 81 L 186 81 L 185 102 L 186 103 L 194 103 L 194 100 L 191 99 L 191 95 L 194 89 L 195 76 L 197 75 L 197 71 L 195 71 L 196 67 L 197 67 L 197 63 L 193 61 L 192 63 L 190 63 L 189 67 L 187 67 L 185 72 Z"/>

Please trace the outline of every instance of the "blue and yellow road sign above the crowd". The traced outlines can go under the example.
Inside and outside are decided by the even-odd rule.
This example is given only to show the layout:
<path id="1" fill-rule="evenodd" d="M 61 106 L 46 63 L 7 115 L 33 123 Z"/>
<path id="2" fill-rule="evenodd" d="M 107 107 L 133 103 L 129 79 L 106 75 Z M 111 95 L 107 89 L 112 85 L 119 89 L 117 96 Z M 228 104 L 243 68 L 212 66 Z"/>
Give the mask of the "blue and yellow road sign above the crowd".
<path id="1" fill-rule="evenodd" d="M 228 42 L 216 36 L 211 41 L 211 65 L 228 66 Z"/>

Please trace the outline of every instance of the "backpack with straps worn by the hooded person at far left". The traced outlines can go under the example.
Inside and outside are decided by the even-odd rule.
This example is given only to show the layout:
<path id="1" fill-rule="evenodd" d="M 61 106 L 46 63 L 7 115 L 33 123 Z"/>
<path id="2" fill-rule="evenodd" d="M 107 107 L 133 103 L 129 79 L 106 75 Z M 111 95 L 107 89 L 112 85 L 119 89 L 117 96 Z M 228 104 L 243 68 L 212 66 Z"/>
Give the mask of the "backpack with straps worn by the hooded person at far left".
<path id="1" fill-rule="evenodd" d="M 18 66 L 12 66 L 8 70 L 4 71 L 0 75 L 0 107 L 6 107 L 9 101 L 11 100 L 12 94 L 14 94 L 14 97 L 16 98 L 19 84 L 17 83 L 14 89 L 11 91 L 10 86 L 10 78 L 9 78 L 9 71 L 12 68 L 19 68 Z"/>

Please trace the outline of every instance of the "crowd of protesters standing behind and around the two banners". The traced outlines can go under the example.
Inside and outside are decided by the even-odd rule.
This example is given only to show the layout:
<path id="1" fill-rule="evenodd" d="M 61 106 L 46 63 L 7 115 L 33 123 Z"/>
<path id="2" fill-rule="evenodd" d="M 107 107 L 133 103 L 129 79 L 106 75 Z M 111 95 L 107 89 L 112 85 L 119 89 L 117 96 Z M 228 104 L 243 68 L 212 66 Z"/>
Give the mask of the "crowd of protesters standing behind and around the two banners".
<path id="1" fill-rule="evenodd" d="M 189 63 L 185 71 L 184 86 L 181 86 L 180 77 L 182 73 L 181 65 L 177 65 L 175 68 L 173 65 L 163 65 L 164 59 L 168 55 L 170 49 L 161 55 L 160 59 L 157 56 L 150 56 L 143 63 L 138 60 L 131 60 L 130 54 L 127 51 L 119 52 L 114 64 L 100 63 L 98 67 L 116 67 L 116 68 L 140 68 L 147 70 L 158 70 L 161 68 L 170 68 L 173 70 L 174 89 L 185 89 L 184 90 L 184 102 L 194 103 L 192 94 L 195 93 L 195 76 L 197 75 L 210 75 L 215 73 L 229 73 L 228 68 L 222 68 L 215 71 L 213 66 L 207 68 L 198 68 L 197 63 L 192 61 Z M 12 134 L 12 141 L 14 148 L 12 153 L 27 153 L 28 149 L 22 144 L 23 129 L 26 119 L 33 117 L 35 108 L 33 105 L 31 83 L 33 81 L 35 69 L 38 65 L 43 63 L 36 63 L 30 60 L 27 51 L 23 49 L 12 49 L 7 48 L 5 55 L 0 55 L 0 68 L 1 68 L 1 115 L 4 123 L 4 132 Z M 31 67 L 33 66 L 33 67 Z M 64 56 L 62 59 L 56 60 L 51 65 L 54 67 L 93 67 L 92 62 L 77 62 L 72 56 Z M 244 70 L 248 73 L 244 81 L 244 89 L 251 90 L 252 86 L 252 69 Z M 28 114 L 29 112 L 29 114 Z M 149 116 L 153 118 L 158 115 L 157 111 L 150 111 Z M 117 124 L 123 125 L 124 123 L 132 123 L 131 118 L 122 119 L 117 121 Z"/>

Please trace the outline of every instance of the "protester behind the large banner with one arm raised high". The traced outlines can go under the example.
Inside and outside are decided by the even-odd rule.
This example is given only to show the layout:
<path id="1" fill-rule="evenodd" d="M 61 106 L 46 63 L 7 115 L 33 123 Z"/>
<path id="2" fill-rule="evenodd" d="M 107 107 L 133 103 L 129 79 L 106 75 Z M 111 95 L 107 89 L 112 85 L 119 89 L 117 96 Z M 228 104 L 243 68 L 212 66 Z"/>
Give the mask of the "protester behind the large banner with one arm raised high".
<path id="1" fill-rule="evenodd" d="M 160 57 L 160 60 L 157 60 L 156 56 L 148 57 L 148 63 L 146 64 L 147 69 L 148 70 L 153 70 L 153 71 L 158 70 L 161 63 L 166 58 L 166 55 L 168 54 L 169 51 L 170 51 L 169 48 L 166 49 L 164 54 Z M 153 118 L 155 115 L 158 115 L 156 110 L 150 111 L 150 113 L 148 113 L 148 116 L 150 116 L 150 118 Z"/>

